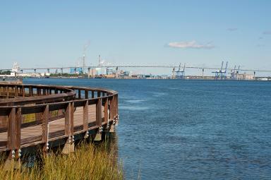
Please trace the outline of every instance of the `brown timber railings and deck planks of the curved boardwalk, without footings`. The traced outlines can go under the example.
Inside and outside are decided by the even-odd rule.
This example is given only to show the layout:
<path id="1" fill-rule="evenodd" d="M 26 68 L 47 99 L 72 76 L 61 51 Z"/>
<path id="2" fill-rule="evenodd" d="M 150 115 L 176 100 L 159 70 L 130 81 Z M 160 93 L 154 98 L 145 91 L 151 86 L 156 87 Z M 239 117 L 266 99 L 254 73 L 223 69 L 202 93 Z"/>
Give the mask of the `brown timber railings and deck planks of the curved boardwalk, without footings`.
<path id="1" fill-rule="evenodd" d="M 54 94 L 49 95 L 52 90 Z M 85 98 L 82 100 L 81 94 L 81 100 L 78 100 L 74 90 L 84 91 Z M 3 97 L 16 97 L 0 99 L 0 116 L 7 120 L 7 128 L 0 129 L 0 152 L 8 151 L 10 160 L 14 157 L 12 150 L 15 151 L 15 158 L 18 158 L 18 150 L 30 145 L 40 144 L 45 150 L 47 142 L 59 138 L 68 138 L 67 143 L 71 142 L 72 145 L 74 134 L 97 131 L 117 114 L 116 92 L 102 88 L 0 83 L 0 94 Z M 52 111 L 57 111 L 58 115 L 56 112 L 50 115 Z M 24 114 L 40 115 L 35 121 L 22 124 Z"/>

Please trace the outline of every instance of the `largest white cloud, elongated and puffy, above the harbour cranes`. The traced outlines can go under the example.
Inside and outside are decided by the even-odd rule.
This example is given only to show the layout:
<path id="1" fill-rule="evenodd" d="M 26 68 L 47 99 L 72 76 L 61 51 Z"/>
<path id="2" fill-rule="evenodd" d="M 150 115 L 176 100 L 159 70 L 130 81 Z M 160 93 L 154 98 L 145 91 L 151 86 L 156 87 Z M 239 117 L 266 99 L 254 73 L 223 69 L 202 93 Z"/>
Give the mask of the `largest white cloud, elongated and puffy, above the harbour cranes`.
<path id="1" fill-rule="evenodd" d="M 207 44 L 198 44 L 195 41 L 191 42 L 169 42 L 169 47 L 175 47 L 175 48 L 183 48 L 183 49 L 212 49 L 215 46 L 213 46 L 210 42 Z"/>

